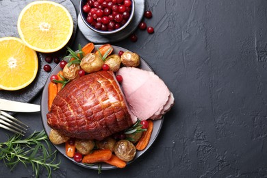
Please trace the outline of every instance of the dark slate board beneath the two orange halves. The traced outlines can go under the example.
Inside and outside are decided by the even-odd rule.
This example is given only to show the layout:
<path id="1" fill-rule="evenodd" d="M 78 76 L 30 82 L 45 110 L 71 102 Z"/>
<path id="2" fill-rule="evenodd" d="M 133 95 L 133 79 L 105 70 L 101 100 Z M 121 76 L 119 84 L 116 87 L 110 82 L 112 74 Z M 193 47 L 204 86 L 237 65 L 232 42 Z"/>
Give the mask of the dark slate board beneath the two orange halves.
<path id="1" fill-rule="evenodd" d="M 14 36 L 18 37 L 18 30 L 17 30 L 17 20 L 18 16 L 23 10 L 23 8 L 33 0 L 2 0 L 0 1 L 0 38 L 5 36 Z M 75 7 L 73 3 L 70 0 L 54 0 L 57 3 L 60 3 L 63 5 L 68 12 L 70 12 L 71 16 L 73 17 L 73 36 L 71 37 L 71 40 L 68 42 L 67 46 L 71 46 L 73 43 L 73 40 L 75 38 L 75 34 L 77 31 L 77 13 L 75 10 Z M 12 13 L 10 13 L 10 11 Z M 51 56 L 52 58 L 63 58 L 66 54 L 66 48 L 61 49 L 58 52 L 55 53 L 38 53 L 38 60 L 39 60 L 39 67 L 38 67 L 38 73 L 36 75 L 36 79 L 27 86 L 26 88 L 23 88 L 21 90 L 16 91 L 5 91 L 0 90 L 0 98 L 2 99 L 10 99 L 12 101 L 21 101 L 21 102 L 27 102 L 34 99 L 36 94 L 42 90 L 44 87 L 44 83 L 47 80 L 47 77 L 49 76 L 49 73 L 45 72 L 43 70 L 43 66 L 45 64 L 48 64 L 45 62 L 46 56 Z M 55 62 L 52 62 L 49 64 L 52 68 L 56 66 Z"/>

